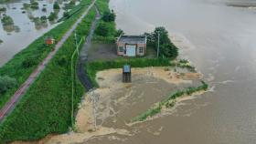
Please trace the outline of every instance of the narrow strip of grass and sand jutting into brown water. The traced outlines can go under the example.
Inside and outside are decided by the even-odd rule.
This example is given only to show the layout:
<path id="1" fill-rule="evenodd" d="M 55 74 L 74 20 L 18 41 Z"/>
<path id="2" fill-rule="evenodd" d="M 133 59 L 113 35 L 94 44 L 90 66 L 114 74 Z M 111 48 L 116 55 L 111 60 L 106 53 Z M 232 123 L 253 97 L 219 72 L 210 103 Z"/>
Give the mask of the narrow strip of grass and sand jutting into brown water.
<path id="1" fill-rule="evenodd" d="M 154 117 L 156 114 L 160 113 L 162 108 L 172 108 L 175 106 L 176 98 L 191 96 L 199 91 L 206 91 L 208 89 L 208 84 L 204 81 L 198 87 L 188 87 L 184 90 L 178 90 L 174 93 L 171 93 L 167 98 L 157 103 L 155 107 L 149 108 L 144 113 L 132 119 L 132 122 L 144 121 L 146 118 Z"/>

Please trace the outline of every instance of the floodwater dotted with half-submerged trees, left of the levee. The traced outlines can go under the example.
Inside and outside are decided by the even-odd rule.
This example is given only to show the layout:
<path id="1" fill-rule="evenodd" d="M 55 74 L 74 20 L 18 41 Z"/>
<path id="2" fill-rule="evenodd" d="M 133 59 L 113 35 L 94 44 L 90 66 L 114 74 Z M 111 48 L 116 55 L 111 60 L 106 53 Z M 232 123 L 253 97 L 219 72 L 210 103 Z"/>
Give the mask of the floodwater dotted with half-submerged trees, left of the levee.
<path id="1" fill-rule="evenodd" d="M 0 13 L 0 19 L 3 15 L 9 15 L 14 20 L 14 26 L 3 26 L 0 22 L 0 39 L 3 43 L 0 44 L 0 67 L 11 59 L 17 52 L 28 46 L 37 37 L 48 32 L 49 29 L 57 26 L 57 24 L 37 24 L 33 22 L 34 17 L 50 15 L 53 12 L 53 0 L 37 1 L 38 9 L 23 9 L 23 4 L 29 4 L 29 0 L 14 0 L 9 3 L 0 4 L 0 7 L 5 7 L 6 12 Z M 62 7 L 67 2 L 59 1 Z M 42 11 L 43 7 L 47 10 Z M 24 14 L 23 14 L 24 13 Z M 63 10 L 58 12 L 59 18 L 63 15 Z"/>

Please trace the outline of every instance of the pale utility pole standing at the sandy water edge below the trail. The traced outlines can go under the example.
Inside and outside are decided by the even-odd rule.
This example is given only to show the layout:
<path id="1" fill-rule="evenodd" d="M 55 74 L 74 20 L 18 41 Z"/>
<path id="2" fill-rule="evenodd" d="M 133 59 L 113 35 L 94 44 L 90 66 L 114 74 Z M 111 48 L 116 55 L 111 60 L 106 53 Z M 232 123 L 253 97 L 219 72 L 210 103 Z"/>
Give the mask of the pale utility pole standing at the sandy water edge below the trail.
<path id="1" fill-rule="evenodd" d="M 94 92 L 95 88 L 92 88 L 90 90 L 90 101 L 92 101 L 92 110 L 93 110 L 93 118 L 94 118 L 94 130 L 97 129 L 97 116 L 96 116 L 96 110 L 97 110 L 97 102 L 99 101 L 100 95 Z"/>

